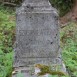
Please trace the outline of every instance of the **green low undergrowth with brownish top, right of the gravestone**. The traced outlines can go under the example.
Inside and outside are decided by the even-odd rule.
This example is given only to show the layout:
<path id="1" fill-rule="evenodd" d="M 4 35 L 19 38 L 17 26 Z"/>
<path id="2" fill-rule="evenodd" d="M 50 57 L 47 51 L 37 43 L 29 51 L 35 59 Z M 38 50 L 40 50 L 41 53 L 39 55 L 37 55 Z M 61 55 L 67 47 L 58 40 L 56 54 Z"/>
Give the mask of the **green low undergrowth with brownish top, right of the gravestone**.
<path id="1" fill-rule="evenodd" d="M 77 24 L 71 22 L 60 32 L 63 61 L 70 77 L 77 77 Z"/>

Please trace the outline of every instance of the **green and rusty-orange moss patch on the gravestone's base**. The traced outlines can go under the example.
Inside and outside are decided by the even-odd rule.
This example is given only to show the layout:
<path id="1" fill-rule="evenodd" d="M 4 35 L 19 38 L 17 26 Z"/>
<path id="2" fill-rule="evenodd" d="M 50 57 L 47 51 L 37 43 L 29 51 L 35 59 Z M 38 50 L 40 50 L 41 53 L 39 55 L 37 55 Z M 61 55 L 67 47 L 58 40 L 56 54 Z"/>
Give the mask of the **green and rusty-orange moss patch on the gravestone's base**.
<path id="1" fill-rule="evenodd" d="M 66 73 L 59 71 L 59 70 L 51 70 L 51 66 L 43 65 L 43 64 L 36 64 L 34 66 L 35 68 L 38 68 L 40 71 L 37 73 L 38 76 L 50 74 L 50 75 L 58 75 L 58 76 L 67 76 Z"/>

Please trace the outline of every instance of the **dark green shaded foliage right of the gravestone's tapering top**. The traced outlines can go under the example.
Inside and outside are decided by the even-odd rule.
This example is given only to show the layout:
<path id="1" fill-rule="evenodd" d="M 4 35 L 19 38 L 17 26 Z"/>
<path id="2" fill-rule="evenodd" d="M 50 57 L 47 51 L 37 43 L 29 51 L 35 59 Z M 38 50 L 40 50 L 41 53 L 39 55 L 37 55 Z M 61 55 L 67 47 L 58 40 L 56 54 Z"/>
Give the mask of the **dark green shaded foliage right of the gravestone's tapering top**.
<path id="1" fill-rule="evenodd" d="M 71 10 L 74 0 L 50 0 L 52 6 L 58 9 L 60 16 L 64 16 Z"/>

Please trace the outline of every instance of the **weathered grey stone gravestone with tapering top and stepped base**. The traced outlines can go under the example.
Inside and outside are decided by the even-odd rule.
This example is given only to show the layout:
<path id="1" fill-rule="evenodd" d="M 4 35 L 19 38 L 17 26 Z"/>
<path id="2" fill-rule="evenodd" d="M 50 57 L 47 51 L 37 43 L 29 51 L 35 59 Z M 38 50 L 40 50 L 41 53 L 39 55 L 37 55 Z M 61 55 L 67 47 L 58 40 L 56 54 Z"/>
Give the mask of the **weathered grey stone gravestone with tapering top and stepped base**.
<path id="1" fill-rule="evenodd" d="M 12 77 L 37 77 L 34 74 L 36 64 L 60 65 L 61 70 L 66 71 L 60 54 L 58 14 L 49 1 L 25 0 L 17 8 L 16 17 Z"/>

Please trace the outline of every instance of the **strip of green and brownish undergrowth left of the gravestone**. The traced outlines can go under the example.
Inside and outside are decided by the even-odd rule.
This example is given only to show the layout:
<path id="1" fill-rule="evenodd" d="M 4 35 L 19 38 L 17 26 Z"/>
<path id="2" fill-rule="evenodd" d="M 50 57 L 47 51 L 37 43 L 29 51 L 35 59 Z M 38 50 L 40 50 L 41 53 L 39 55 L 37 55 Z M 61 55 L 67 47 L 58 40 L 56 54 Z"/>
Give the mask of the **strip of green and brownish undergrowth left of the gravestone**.
<path id="1" fill-rule="evenodd" d="M 15 13 L 9 9 L 0 6 L 0 77 L 12 72 Z"/>

